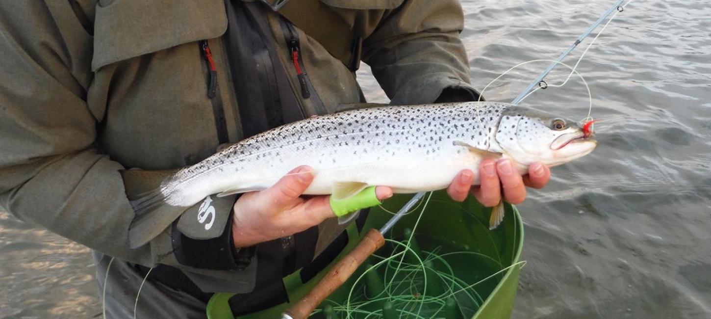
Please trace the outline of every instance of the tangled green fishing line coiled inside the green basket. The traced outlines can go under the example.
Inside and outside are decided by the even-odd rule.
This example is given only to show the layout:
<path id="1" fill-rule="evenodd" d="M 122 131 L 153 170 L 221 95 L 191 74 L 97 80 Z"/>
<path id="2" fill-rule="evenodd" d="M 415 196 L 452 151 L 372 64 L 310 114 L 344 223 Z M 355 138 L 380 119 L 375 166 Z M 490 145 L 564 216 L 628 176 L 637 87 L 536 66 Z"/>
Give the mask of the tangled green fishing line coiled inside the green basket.
<path id="1" fill-rule="evenodd" d="M 431 194 L 421 203 L 424 206 L 419 210 L 419 216 L 413 227 L 412 233 L 405 236 L 401 241 L 386 239 L 392 248 L 392 253 L 387 257 L 373 255 L 375 262 L 373 266 L 368 266 L 360 275 L 355 278 L 351 285 L 348 296 L 343 303 L 338 303 L 332 299 L 326 299 L 331 310 L 338 313 L 338 318 L 382 318 L 384 303 L 391 303 L 397 316 L 400 318 L 442 318 L 443 311 L 447 306 L 447 301 L 454 298 L 461 311 L 466 314 L 474 314 L 486 300 L 486 295 L 477 291 L 477 287 L 492 278 L 498 278 L 508 269 L 516 266 L 523 266 L 525 262 L 514 263 L 510 266 L 503 266 L 501 252 L 496 256 L 487 256 L 475 251 L 452 251 L 442 253 L 439 246 L 431 251 L 418 251 L 413 246 L 415 242 L 415 232 L 422 222 L 422 214 L 427 211 L 429 202 L 433 199 Z M 439 200 L 435 200 L 440 202 Z M 464 209 L 463 206 L 452 204 L 458 207 L 463 214 L 473 214 Z M 486 222 L 480 219 L 481 226 L 487 227 Z M 518 221 L 515 221 L 518 223 Z M 518 225 L 514 224 L 514 231 Z M 514 234 L 514 237 L 517 234 Z M 511 261 L 515 257 L 515 241 L 511 247 Z M 411 257 L 405 259 L 405 257 Z M 456 257 L 459 256 L 459 257 Z M 469 256 L 469 257 L 467 257 Z M 448 262 L 449 258 L 458 260 L 461 264 L 464 258 L 466 263 L 480 263 L 479 258 L 493 266 L 491 273 L 474 283 L 458 278 L 454 267 Z M 380 293 L 368 296 L 368 283 L 365 278 L 368 273 L 375 272 L 382 278 L 384 286 Z M 434 286 L 433 286 L 434 285 Z M 430 288 L 432 286 L 433 288 Z M 371 291 L 370 293 L 373 293 Z M 312 315 L 323 312 L 323 309 L 314 310 Z"/>

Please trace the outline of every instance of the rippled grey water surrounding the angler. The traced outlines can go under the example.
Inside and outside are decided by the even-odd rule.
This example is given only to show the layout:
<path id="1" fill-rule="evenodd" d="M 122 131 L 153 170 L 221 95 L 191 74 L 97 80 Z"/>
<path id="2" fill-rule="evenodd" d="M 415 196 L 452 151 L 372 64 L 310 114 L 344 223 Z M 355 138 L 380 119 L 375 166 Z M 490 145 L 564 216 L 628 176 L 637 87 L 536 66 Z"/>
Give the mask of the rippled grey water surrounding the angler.
<path id="1" fill-rule="evenodd" d="M 557 57 L 608 3 L 464 1 L 474 84 Z M 600 146 L 520 205 L 528 264 L 513 318 L 711 318 L 710 17 L 711 1 L 637 0 L 584 58 Z M 486 98 L 512 100 L 543 68 Z M 367 73 L 366 95 L 387 101 Z M 572 80 L 523 105 L 582 118 L 586 94 Z M 87 249 L 5 213 L 0 230 L 0 318 L 100 314 Z"/>

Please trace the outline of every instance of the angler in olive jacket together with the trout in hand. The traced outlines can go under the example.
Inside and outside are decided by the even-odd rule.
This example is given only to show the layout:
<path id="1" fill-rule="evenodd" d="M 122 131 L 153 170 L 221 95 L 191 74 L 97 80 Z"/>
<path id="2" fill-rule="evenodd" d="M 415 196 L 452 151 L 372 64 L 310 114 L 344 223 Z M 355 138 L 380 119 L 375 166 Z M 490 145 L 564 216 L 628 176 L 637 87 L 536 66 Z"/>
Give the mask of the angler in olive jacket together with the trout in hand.
<path id="1" fill-rule="evenodd" d="M 479 95 L 455 0 L 3 1 L 0 21 L 0 206 L 94 251 L 109 318 L 282 303 L 344 246 L 357 214 L 330 196 L 519 204 L 589 152 L 563 120 L 456 106 Z M 455 104 L 348 111 L 360 61 L 392 105 Z M 509 117 L 559 148 L 515 157 Z"/>

